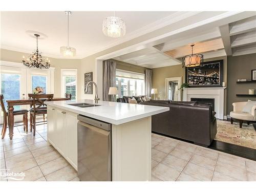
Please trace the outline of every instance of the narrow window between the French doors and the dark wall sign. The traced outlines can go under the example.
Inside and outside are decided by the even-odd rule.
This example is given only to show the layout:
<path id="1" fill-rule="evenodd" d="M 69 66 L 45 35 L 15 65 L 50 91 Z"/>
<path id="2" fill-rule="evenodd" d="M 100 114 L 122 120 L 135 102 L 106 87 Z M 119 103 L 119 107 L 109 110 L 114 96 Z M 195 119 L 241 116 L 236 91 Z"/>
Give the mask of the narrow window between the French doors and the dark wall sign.
<path id="1" fill-rule="evenodd" d="M 61 93 L 71 94 L 71 100 L 77 98 L 77 70 L 76 69 L 61 69 Z"/>

